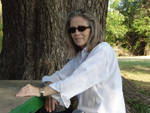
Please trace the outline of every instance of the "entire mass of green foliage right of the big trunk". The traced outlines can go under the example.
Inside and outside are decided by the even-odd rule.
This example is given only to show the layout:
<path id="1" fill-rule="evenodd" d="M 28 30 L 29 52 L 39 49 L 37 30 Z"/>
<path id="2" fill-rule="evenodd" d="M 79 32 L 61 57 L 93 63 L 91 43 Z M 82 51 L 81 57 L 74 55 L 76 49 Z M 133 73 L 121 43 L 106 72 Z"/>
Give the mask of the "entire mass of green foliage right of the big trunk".
<path id="1" fill-rule="evenodd" d="M 107 40 L 111 43 L 120 43 L 122 47 L 128 48 L 135 55 L 143 55 L 146 45 L 150 43 L 149 2 L 145 2 L 145 0 L 110 0 Z"/>

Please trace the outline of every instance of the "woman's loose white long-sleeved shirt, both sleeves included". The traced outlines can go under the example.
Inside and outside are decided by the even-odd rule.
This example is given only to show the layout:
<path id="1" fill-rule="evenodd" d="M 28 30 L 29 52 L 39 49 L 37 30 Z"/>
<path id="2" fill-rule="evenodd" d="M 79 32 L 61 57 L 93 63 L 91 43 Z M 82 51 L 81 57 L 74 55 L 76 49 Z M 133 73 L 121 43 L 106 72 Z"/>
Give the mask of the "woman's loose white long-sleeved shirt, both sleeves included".
<path id="1" fill-rule="evenodd" d="M 61 70 L 44 76 L 42 82 L 59 92 L 53 95 L 61 105 L 70 106 L 78 95 L 78 109 L 84 113 L 125 113 L 122 79 L 114 50 L 107 42 L 90 53 L 84 48 Z"/>

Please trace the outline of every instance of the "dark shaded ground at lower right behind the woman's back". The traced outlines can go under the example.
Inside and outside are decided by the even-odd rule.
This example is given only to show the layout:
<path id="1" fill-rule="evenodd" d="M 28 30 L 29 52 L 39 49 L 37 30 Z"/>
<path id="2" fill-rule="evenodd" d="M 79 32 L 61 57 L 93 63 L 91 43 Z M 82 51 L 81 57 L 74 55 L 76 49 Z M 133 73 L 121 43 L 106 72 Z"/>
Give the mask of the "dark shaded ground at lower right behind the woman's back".
<path id="1" fill-rule="evenodd" d="M 133 113 L 150 113 L 150 82 L 123 78 L 126 104 Z"/>

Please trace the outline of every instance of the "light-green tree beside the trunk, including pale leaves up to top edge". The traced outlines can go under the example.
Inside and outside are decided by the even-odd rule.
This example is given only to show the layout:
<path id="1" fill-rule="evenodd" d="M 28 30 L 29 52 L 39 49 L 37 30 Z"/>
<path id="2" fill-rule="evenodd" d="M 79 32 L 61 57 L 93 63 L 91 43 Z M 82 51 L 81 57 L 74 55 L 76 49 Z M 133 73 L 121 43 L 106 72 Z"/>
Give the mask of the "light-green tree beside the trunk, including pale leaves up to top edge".
<path id="1" fill-rule="evenodd" d="M 107 14 L 106 39 L 114 46 L 126 43 L 124 37 L 128 31 L 127 26 L 123 23 L 125 17 L 115 8 L 118 7 L 119 0 L 110 0 Z"/>

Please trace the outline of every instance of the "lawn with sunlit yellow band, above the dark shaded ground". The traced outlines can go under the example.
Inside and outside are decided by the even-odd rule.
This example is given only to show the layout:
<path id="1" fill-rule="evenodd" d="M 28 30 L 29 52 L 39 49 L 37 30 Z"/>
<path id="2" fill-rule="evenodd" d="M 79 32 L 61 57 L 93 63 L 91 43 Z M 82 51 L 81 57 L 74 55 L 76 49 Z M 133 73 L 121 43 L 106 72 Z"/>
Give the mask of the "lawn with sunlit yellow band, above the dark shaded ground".
<path id="1" fill-rule="evenodd" d="M 150 60 L 119 61 L 119 66 L 125 78 L 150 83 Z"/>

